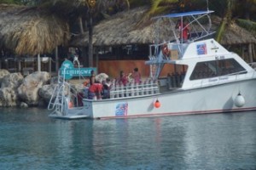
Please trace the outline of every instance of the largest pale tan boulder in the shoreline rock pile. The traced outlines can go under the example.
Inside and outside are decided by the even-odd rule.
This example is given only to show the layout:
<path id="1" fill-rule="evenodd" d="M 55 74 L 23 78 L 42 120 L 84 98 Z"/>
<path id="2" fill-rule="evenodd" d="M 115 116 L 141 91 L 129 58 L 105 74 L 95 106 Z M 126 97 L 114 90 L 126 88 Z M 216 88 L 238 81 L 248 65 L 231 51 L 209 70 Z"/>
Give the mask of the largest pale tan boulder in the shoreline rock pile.
<path id="1" fill-rule="evenodd" d="M 38 105 L 38 91 L 44 84 L 49 82 L 49 73 L 36 71 L 24 78 L 23 83 L 18 88 L 18 94 L 27 105 Z"/>

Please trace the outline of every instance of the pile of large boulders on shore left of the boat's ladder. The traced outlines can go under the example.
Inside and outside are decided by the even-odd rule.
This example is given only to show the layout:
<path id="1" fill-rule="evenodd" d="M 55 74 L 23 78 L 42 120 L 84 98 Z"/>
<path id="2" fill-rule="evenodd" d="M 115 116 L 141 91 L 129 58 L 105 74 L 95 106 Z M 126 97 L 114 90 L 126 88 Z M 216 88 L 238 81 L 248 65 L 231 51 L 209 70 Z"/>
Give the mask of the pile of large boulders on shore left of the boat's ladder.
<path id="1" fill-rule="evenodd" d="M 0 69 L 0 107 L 46 107 L 57 85 L 56 80 L 45 71 L 23 77 L 20 72 Z"/>

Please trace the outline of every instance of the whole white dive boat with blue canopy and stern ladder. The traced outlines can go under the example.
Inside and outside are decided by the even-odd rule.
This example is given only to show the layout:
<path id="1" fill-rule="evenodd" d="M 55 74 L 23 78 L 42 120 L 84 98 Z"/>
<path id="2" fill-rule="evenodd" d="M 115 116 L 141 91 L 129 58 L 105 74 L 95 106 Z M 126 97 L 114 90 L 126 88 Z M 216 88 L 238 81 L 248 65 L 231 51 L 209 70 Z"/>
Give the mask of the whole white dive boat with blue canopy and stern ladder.
<path id="1" fill-rule="evenodd" d="M 110 99 L 84 97 L 83 105 L 70 108 L 70 96 L 62 93 L 69 85 L 63 80 L 49 102 L 49 108 L 54 110 L 49 116 L 108 119 L 256 110 L 253 64 L 247 64 L 211 38 L 214 32 L 200 21 L 202 17 L 210 20 L 212 12 L 194 11 L 155 17 L 153 20 L 172 20 L 174 39 L 149 45 L 145 64 L 150 66 L 150 75 L 145 82 L 125 87 L 113 85 Z M 188 21 L 186 26 L 184 18 Z M 188 39 L 178 36 L 177 20 L 182 22 L 180 31 L 190 27 Z M 211 25 L 211 21 L 209 23 Z M 165 65 L 172 67 L 173 71 L 160 77 Z"/>

